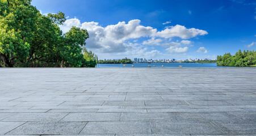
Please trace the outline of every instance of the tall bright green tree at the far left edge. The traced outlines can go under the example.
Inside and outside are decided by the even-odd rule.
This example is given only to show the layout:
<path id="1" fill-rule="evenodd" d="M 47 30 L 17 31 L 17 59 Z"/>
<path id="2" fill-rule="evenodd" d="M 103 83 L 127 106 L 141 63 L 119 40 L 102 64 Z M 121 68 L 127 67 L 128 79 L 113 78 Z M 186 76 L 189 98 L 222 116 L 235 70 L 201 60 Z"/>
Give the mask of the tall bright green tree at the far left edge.
<path id="1" fill-rule="evenodd" d="M 0 56 L 5 67 L 14 67 L 15 60 L 22 61 L 28 56 L 39 12 L 30 2 L 0 1 Z"/>

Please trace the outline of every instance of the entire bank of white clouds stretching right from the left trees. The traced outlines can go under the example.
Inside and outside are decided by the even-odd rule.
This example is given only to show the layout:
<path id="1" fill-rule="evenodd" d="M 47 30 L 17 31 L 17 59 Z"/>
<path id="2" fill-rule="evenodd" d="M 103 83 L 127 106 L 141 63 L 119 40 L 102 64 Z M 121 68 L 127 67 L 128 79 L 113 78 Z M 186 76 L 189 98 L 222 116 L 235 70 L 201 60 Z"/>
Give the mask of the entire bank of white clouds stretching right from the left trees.
<path id="1" fill-rule="evenodd" d="M 60 25 L 60 28 L 64 33 L 68 32 L 72 26 L 87 29 L 90 37 L 86 40 L 86 48 L 98 53 L 125 53 L 128 50 L 136 50 L 138 46 L 140 46 L 140 49 L 144 49 L 145 45 L 161 45 L 167 48 L 175 46 L 175 49 L 172 47 L 168 50 L 174 50 L 177 53 L 187 52 L 188 48 L 180 46 L 181 43 L 183 45 L 190 44 L 190 41 L 182 40 L 181 43 L 176 43 L 171 41 L 171 38 L 180 37 L 181 39 L 190 39 L 208 34 L 207 31 L 202 29 L 186 28 L 178 24 L 165 28 L 163 31 L 157 31 L 156 28 L 146 27 L 140 23 L 141 21 L 139 19 L 135 19 L 130 20 L 128 23 L 119 22 L 102 27 L 98 22 L 81 23 L 79 19 L 73 18 L 67 19 L 63 25 Z M 138 41 L 141 37 L 148 40 L 141 43 Z M 133 41 L 133 45 L 129 43 L 131 41 Z M 136 45 L 137 48 L 134 48 L 135 44 L 139 44 Z"/>

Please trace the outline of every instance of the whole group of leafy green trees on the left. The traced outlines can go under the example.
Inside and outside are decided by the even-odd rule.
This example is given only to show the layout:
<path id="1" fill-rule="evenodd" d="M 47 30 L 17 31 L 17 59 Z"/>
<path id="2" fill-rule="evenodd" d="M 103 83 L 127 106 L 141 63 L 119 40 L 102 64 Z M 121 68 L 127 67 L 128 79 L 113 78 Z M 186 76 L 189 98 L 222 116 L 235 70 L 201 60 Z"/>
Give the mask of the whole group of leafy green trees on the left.
<path id="1" fill-rule="evenodd" d="M 62 33 L 65 14 L 42 15 L 31 0 L 0 1 L 0 67 L 95 67 L 85 48 L 89 33 L 72 27 Z"/>

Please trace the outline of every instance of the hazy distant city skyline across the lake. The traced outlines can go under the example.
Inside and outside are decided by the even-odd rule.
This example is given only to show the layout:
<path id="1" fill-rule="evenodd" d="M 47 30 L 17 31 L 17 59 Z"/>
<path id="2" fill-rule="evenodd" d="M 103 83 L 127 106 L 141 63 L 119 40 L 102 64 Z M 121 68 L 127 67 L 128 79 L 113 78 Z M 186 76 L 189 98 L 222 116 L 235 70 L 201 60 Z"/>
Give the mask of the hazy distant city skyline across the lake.
<path id="1" fill-rule="evenodd" d="M 127 59 L 127 57 L 125 57 L 125 59 Z M 121 59 L 104 59 L 104 61 L 119 61 Z M 195 58 L 195 59 L 146 59 L 146 58 L 134 58 L 132 60 L 132 62 L 184 62 L 184 61 L 189 61 L 189 62 L 193 62 L 193 61 L 216 61 L 216 59 L 210 59 L 210 58 Z"/>

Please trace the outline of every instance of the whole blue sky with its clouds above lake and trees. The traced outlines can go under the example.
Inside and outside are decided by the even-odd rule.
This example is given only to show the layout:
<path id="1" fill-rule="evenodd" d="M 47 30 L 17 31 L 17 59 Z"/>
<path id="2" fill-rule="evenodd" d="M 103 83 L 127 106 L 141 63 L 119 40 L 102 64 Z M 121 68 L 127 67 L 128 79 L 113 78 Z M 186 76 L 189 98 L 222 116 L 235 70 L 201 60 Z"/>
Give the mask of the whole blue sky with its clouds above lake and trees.
<path id="1" fill-rule="evenodd" d="M 87 29 L 86 47 L 104 58 L 212 58 L 256 48 L 256 1 L 32 0 L 60 26 Z"/>

